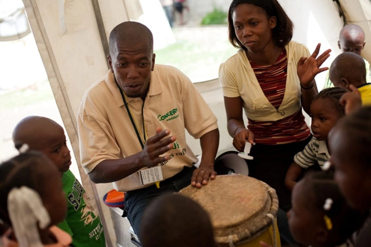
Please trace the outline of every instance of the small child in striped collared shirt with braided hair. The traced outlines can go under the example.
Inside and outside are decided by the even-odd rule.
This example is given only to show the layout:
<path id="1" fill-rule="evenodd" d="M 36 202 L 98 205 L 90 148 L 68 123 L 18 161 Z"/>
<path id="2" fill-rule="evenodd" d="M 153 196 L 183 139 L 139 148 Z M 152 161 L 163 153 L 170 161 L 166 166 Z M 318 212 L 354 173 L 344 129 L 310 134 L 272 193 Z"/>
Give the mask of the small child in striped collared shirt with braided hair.
<path id="1" fill-rule="evenodd" d="M 295 155 L 294 162 L 287 171 L 285 185 L 290 191 L 305 169 L 315 164 L 323 168 L 324 163 L 330 159 L 327 137 L 338 120 L 345 115 L 340 98 L 347 91 L 344 88 L 328 88 L 313 99 L 311 104 L 313 138 L 303 151 Z"/>

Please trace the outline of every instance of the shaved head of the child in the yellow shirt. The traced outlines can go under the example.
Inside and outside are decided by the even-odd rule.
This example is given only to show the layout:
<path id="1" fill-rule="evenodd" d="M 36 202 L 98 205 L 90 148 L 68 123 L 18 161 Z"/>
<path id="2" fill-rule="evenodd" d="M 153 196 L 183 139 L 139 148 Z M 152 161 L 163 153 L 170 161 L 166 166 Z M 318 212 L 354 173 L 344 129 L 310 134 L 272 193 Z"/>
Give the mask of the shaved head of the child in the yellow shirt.
<path id="1" fill-rule="evenodd" d="M 348 88 L 349 84 L 360 86 L 366 83 L 366 65 L 364 59 L 353 52 L 344 52 L 337 56 L 330 67 L 330 80 L 334 86 Z"/>

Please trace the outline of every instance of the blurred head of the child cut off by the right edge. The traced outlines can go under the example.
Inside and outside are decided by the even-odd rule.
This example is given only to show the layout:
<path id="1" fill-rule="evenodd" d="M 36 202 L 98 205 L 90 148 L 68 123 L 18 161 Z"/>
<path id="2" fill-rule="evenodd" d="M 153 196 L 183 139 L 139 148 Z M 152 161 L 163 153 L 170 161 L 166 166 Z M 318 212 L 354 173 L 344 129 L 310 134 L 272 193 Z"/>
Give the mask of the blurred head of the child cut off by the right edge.
<path id="1" fill-rule="evenodd" d="M 354 208 L 371 207 L 371 107 L 341 119 L 329 134 L 335 179 Z"/>

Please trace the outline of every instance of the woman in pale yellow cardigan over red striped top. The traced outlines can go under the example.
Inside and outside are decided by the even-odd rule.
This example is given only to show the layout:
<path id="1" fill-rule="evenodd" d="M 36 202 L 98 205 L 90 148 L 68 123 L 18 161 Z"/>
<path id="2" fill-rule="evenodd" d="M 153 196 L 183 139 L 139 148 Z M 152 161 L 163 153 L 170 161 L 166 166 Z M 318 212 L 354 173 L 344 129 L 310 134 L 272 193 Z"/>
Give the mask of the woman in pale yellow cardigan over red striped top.
<path id="1" fill-rule="evenodd" d="M 331 50 L 318 56 L 319 44 L 310 55 L 291 41 L 293 23 L 277 0 L 233 0 L 228 21 L 230 42 L 240 48 L 219 70 L 228 132 L 240 152 L 246 141 L 256 142 L 249 174 L 273 187 L 280 208 L 288 211 L 286 171 L 311 139 L 302 108 L 309 113 L 318 93 L 314 77 L 328 69 L 319 67 Z"/>

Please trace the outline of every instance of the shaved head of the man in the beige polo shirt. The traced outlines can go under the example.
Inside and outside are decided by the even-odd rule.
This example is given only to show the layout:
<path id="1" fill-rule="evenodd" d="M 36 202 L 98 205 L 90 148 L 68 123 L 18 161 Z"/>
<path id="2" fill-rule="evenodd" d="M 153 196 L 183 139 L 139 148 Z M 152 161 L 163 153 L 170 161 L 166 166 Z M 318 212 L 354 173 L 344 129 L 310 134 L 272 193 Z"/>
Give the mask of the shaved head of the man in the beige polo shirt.
<path id="1" fill-rule="evenodd" d="M 138 22 L 118 24 L 109 35 L 109 53 L 109 68 L 118 86 L 128 97 L 144 100 L 155 67 L 151 31 Z"/>

